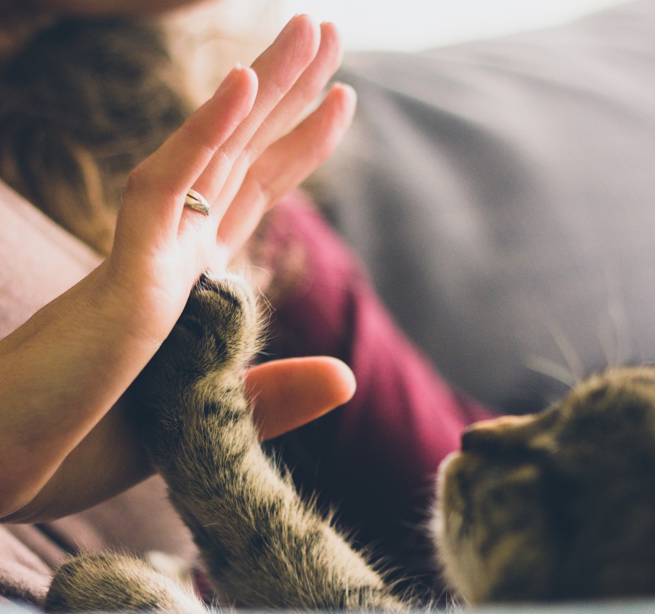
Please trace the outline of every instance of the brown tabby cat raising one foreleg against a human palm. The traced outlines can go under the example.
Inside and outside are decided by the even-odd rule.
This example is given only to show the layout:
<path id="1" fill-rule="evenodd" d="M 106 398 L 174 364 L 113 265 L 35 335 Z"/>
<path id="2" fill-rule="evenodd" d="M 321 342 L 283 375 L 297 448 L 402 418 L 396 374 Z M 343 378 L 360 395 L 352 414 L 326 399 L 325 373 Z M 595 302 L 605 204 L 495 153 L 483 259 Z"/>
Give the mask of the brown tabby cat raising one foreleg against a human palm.
<path id="1" fill-rule="evenodd" d="M 239 372 L 255 299 L 204 276 L 134 384 L 143 441 L 221 594 L 253 608 L 404 609 L 379 573 L 302 503 L 257 443 Z M 444 461 L 433 530 L 468 602 L 655 593 L 655 370 L 593 377 L 539 415 L 462 435 Z M 202 605 L 145 564 L 65 564 L 50 611 Z"/>

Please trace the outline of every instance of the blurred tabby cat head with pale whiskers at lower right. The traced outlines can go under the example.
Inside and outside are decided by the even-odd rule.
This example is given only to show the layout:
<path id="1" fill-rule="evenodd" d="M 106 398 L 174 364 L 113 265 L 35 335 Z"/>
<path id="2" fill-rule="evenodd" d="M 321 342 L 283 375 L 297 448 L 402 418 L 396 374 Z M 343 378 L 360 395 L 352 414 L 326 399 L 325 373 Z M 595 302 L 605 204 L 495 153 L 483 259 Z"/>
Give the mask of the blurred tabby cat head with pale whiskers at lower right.
<path id="1" fill-rule="evenodd" d="M 468 429 L 440 467 L 432 530 L 470 602 L 655 594 L 655 369 Z"/>

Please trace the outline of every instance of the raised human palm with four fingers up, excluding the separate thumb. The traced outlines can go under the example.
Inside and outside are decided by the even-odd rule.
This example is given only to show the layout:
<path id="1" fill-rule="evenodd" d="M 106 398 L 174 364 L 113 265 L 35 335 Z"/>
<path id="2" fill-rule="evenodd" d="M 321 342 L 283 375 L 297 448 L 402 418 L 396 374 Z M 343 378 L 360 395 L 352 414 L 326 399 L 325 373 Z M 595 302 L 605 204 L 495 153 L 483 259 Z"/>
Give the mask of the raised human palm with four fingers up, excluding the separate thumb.
<path id="1" fill-rule="evenodd" d="M 318 29 L 307 16 L 293 18 L 252 69 L 235 68 L 130 175 L 103 280 L 120 303 L 113 316 L 124 315 L 127 330 L 159 344 L 200 273 L 225 268 L 261 214 L 329 155 L 354 110 L 346 86 L 333 86 L 282 135 L 340 59 L 332 24 Z M 210 202 L 207 218 L 183 207 L 191 187 Z"/>

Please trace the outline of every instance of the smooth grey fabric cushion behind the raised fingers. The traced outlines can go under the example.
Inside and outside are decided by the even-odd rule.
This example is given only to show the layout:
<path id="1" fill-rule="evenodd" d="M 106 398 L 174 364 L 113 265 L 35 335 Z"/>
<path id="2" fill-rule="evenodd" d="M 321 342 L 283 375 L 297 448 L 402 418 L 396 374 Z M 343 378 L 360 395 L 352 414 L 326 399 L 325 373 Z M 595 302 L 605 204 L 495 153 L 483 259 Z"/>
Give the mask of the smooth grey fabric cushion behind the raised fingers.
<path id="1" fill-rule="evenodd" d="M 337 78 L 358 113 L 316 194 L 447 378 L 524 412 L 655 360 L 655 1 Z"/>

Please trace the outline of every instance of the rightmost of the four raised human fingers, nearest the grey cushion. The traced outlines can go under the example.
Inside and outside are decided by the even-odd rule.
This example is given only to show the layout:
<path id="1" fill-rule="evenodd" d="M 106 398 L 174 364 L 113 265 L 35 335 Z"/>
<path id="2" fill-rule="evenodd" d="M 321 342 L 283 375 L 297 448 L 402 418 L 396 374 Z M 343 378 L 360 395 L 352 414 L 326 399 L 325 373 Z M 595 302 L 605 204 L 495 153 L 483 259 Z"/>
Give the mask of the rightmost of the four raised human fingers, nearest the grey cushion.
<path id="1" fill-rule="evenodd" d="M 251 166 L 218 229 L 217 240 L 234 256 L 276 201 L 303 182 L 341 142 L 357 96 L 337 83 L 318 109 L 272 144 Z"/>

